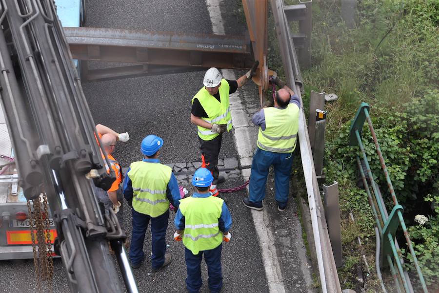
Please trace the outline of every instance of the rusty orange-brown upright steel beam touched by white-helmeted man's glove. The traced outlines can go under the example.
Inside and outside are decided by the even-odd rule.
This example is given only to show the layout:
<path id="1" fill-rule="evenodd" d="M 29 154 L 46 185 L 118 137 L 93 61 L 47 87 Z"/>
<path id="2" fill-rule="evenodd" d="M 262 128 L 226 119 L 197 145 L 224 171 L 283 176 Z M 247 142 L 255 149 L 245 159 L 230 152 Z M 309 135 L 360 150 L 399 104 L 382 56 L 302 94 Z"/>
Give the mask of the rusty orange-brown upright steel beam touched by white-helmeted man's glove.
<path id="1" fill-rule="evenodd" d="M 244 7 L 245 19 L 252 43 L 253 52 L 256 60 L 259 60 L 258 75 L 254 81 L 259 85 L 260 105 L 265 101 L 264 92 L 267 91 L 268 84 L 268 35 L 267 35 L 267 17 L 268 1 L 267 0 L 242 0 Z"/>

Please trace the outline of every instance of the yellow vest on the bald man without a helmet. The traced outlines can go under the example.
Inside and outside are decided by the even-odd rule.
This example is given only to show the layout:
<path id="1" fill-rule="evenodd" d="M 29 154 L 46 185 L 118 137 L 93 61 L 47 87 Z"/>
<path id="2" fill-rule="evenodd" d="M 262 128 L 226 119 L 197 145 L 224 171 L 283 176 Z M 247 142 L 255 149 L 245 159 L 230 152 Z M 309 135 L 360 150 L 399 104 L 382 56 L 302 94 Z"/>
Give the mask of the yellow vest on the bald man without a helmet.
<path id="1" fill-rule="evenodd" d="M 265 130 L 259 127 L 257 146 L 271 152 L 293 152 L 299 130 L 299 107 L 294 103 L 285 109 L 267 107 L 264 114 Z"/>

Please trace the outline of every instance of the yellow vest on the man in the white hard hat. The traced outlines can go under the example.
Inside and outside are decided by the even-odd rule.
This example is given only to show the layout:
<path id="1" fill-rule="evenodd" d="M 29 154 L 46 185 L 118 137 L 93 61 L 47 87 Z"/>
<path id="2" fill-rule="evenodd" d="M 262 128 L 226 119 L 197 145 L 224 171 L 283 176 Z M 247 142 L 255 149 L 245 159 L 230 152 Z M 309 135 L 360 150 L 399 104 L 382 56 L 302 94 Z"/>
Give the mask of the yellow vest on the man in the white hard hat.
<path id="1" fill-rule="evenodd" d="M 209 116 L 207 118 L 201 117 L 202 120 L 210 124 L 227 124 L 227 131 L 230 131 L 232 129 L 232 115 L 230 113 L 229 90 L 229 83 L 225 79 L 222 79 L 221 85 L 218 88 L 221 102 L 219 102 L 214 96 L 209 94 L 204 86 L 192 98 L 192 103 L 194 103 L 194 99 L 198 99 L 198 101 L 200 101 L 200 105 L 204 108 L 204 111 L 206 111 L 207 116 Z M 202 140 L 213 140 L 218 135 L 220 134 L 212 132 L 209 128 L 198 126 L 198 136 L 200 136 Z"/>

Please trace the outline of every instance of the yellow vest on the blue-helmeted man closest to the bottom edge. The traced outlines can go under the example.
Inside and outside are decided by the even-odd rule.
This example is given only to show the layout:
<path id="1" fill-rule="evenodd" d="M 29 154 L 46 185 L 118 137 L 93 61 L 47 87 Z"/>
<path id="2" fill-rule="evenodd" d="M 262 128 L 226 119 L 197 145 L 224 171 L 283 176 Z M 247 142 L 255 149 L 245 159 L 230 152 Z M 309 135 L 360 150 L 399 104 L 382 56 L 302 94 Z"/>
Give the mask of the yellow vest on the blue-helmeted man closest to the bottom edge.
<path id="1" fill-rule="evenodd" d="M 184 216 L 183 244 L 198 254 L 211 250 L 222 242 L 222 232 L 218 227 L 224 201 L 215 196 L 187 197 L 180 200 L 179 209 Z"/>

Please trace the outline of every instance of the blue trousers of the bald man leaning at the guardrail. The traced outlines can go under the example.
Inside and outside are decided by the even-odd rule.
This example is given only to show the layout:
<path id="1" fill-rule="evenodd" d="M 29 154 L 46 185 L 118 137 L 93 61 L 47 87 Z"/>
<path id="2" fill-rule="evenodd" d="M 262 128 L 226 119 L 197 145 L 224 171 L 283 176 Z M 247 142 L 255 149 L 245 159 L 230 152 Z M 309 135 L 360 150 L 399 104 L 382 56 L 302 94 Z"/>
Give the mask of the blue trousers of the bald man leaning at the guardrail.
<path id="1" fill-rule="evenodd" d="M 265 198 L 265 185 L 268 171 L 273 165 L 275 173 L 276 201 L 279 205 L 286 205 L 288 201 L 289 181 L 291 166 L 293 165 L 292 153 L 275 153 L 257 147 L 253 156 L 252 172 L 249 183 L 249 200 L 262 204 Z"/>

